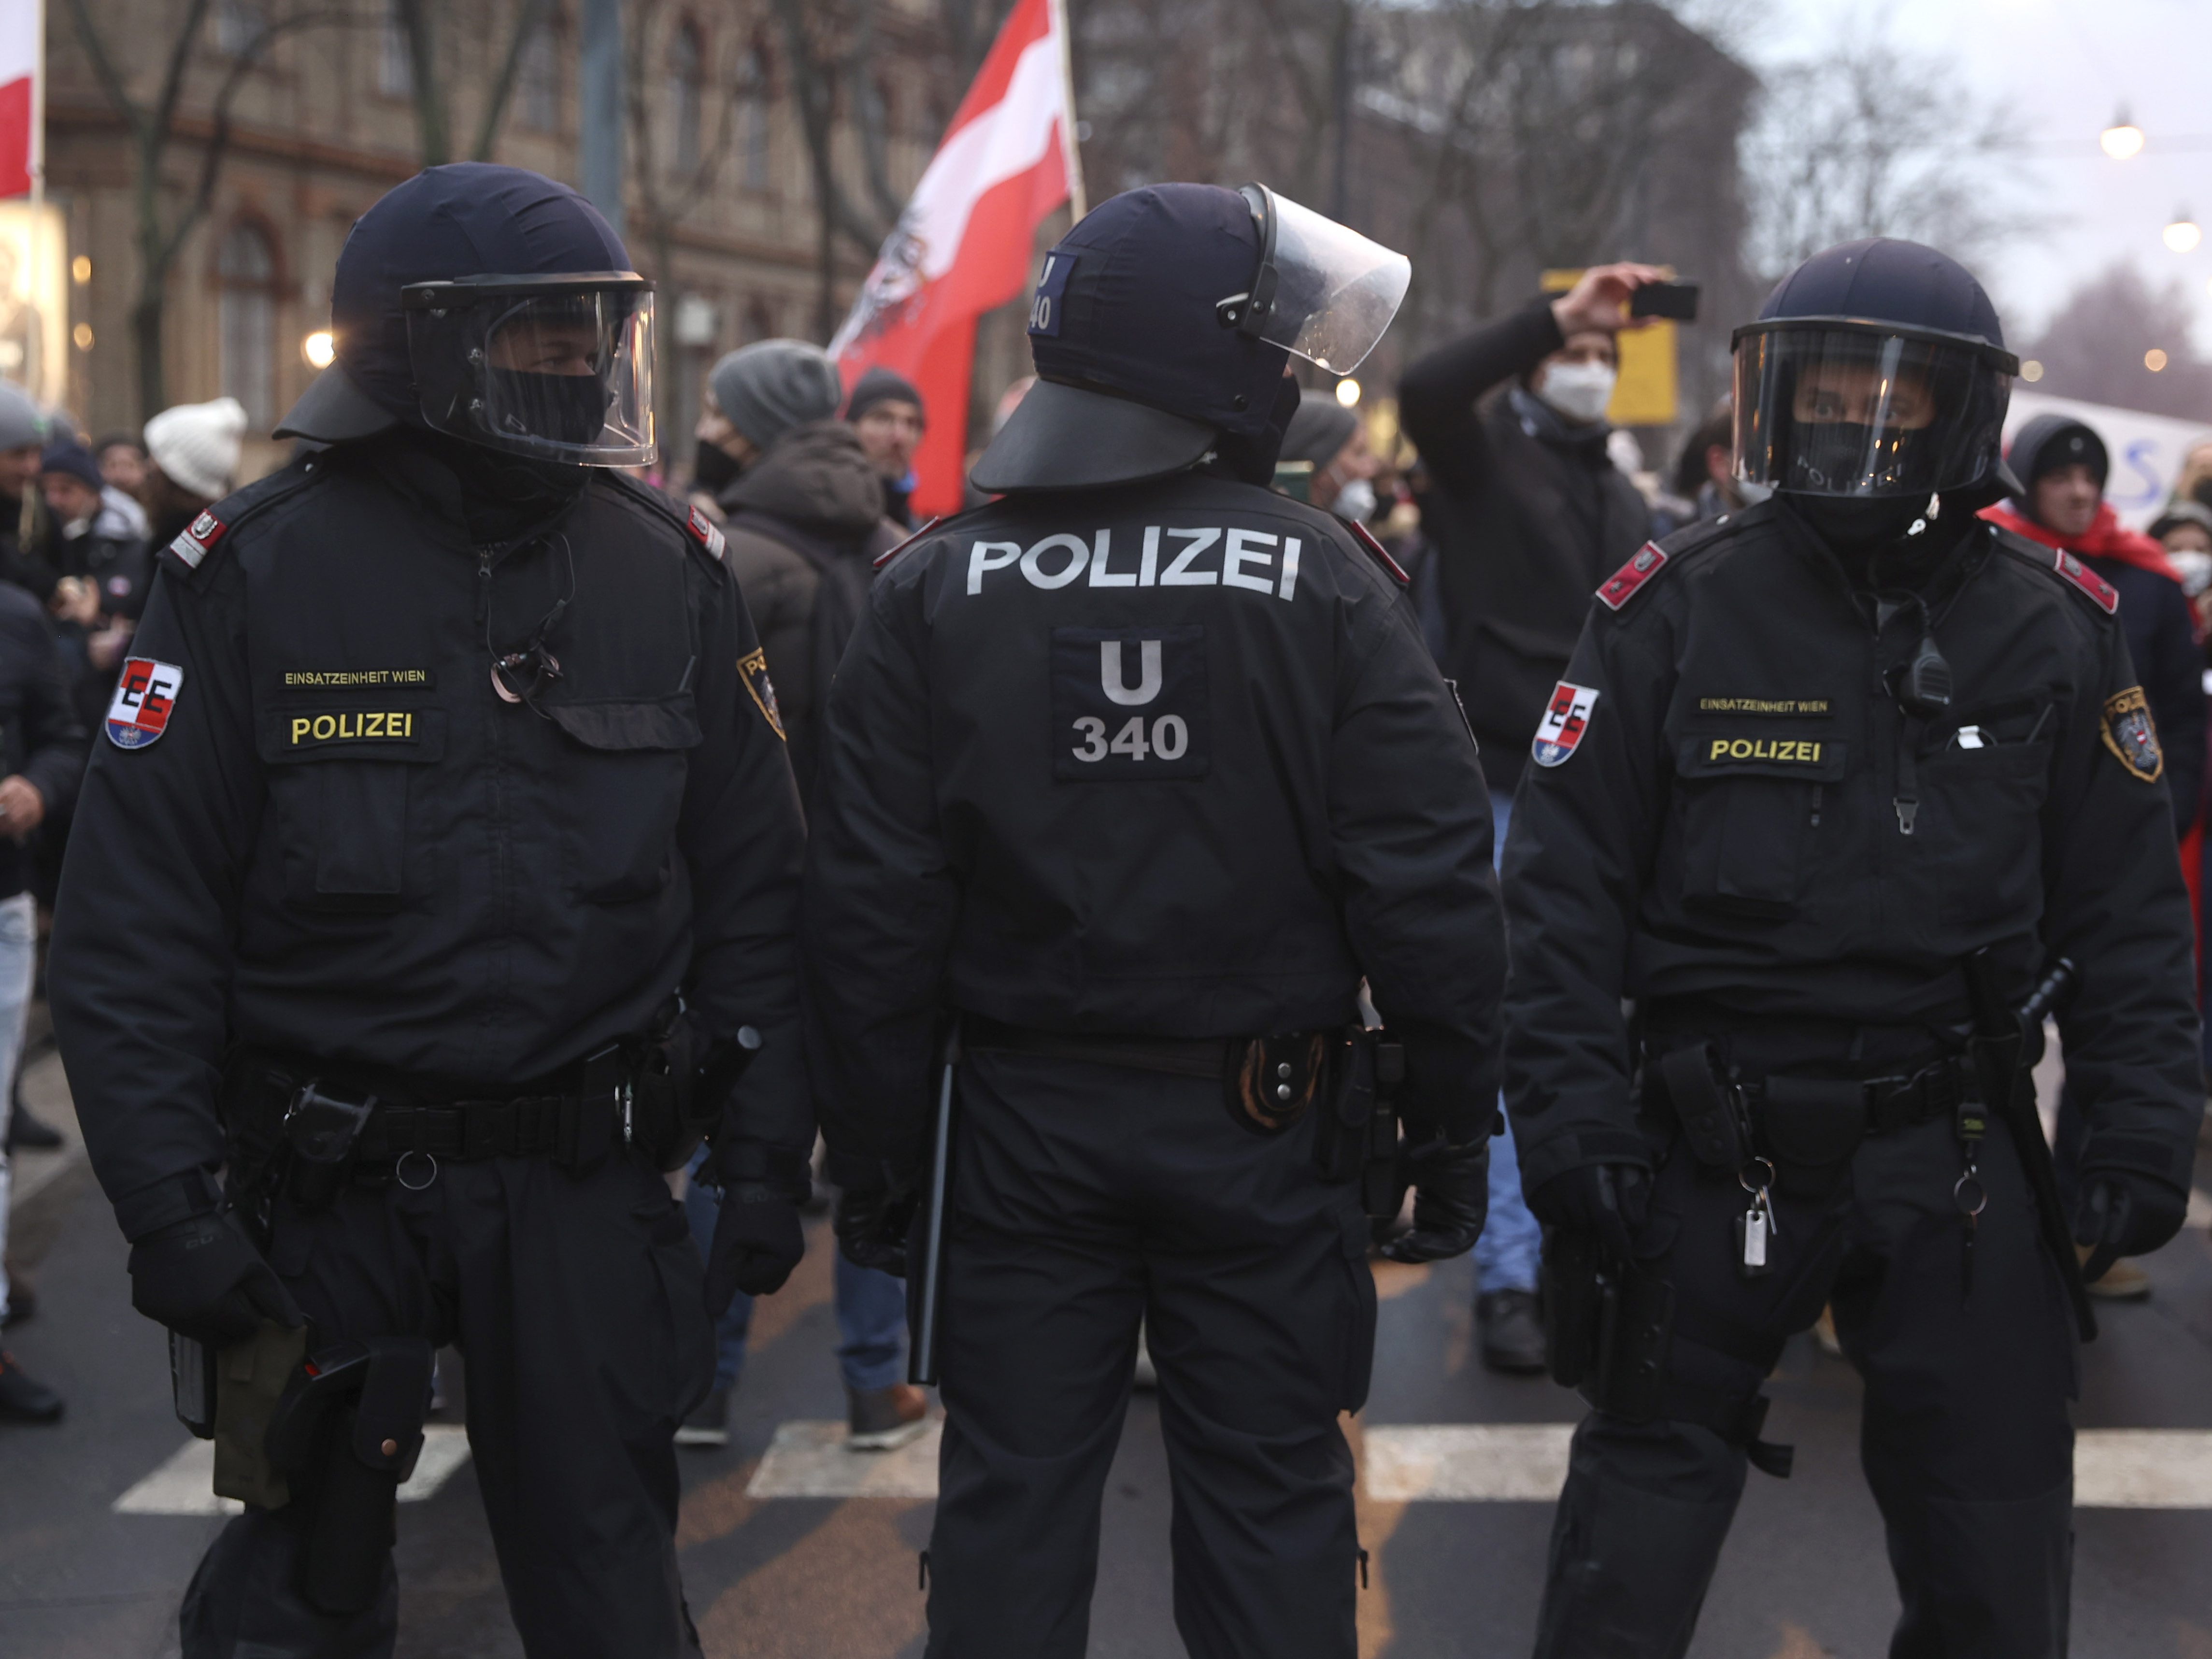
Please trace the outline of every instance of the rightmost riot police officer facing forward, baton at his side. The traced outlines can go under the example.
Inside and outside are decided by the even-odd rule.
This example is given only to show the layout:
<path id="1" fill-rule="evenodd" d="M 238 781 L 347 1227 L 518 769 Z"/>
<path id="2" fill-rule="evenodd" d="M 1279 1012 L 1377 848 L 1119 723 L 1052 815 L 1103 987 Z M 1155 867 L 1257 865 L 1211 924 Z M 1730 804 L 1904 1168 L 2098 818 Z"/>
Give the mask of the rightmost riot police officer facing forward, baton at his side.
<path id="1" fill-rule="evenodd" d="M 2157 732 L 2110 588 L 1975 518 L 2017 365 L 1969 272 L 1832 248 L 1734 349 L 1774 500 L 1599 588 L 1506 838 L 1506 1099 L 1595 1407 L 1537 1652 L 1688 1648 L 1745 1464 L 1787 1473 L 1761 1380 L 1832 1303 L 1893 1652 L 2055 1657 L 2068 1234 L 2090 1276 L 2170 1239 L 2203 1104 Z M 2026 1077 L 2068 982 L 2079 1214 Z"/>

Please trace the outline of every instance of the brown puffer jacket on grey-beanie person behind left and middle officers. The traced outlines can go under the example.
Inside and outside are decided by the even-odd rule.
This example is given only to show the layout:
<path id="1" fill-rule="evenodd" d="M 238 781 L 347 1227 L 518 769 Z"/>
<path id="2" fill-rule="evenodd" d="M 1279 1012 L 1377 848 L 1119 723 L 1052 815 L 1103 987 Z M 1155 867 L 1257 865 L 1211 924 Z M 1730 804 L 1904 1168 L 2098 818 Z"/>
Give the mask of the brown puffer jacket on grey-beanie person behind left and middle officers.
<path id="1" fill-rule="evenodd" d="M 814 787 L 814 719 L 852 637 L 874 560 L 905 531 L 843 420 L 792 427 L 721 493 L 730 573 L 768 653 L 801 801 Z"/>

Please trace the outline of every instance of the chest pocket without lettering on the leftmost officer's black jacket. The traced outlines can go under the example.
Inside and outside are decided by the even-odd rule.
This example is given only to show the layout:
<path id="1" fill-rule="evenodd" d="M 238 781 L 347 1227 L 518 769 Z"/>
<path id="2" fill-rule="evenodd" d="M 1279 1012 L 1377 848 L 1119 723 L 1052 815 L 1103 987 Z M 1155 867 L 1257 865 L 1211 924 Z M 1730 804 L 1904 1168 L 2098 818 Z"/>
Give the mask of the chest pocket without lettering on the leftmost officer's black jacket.
<path id="1" fill-rule="evenodd" d="M 672 874 L 686 750 L 703 741 L 690 692 L 633 703 L 549 703 L 573 741 L 568 889 L 586 905 L 659 894 Z"/>

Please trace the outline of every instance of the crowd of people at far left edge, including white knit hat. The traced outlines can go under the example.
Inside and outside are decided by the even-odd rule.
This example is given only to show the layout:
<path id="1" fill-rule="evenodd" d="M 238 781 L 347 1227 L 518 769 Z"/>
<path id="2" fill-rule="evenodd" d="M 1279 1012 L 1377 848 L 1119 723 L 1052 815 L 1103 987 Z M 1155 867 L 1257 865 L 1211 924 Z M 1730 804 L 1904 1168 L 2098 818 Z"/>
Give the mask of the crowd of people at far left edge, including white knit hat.
<path id="1" fill-rule="evenodd" d="M 69 816 L 131 633 L 153 551 L 228 495 L 246 409 L 234 398 L 164 409 L 144 434 L 91 438 L 0 380 L 0 1239 L 9 1155 L 62 1137 L 22 1102 L 24 1026 Z M 18 1263 L 0 1267 L 0 1323 L 38 1307 Z M 0 1349 L 0 1420 L 53 1422 L 62 1398 Z"/>

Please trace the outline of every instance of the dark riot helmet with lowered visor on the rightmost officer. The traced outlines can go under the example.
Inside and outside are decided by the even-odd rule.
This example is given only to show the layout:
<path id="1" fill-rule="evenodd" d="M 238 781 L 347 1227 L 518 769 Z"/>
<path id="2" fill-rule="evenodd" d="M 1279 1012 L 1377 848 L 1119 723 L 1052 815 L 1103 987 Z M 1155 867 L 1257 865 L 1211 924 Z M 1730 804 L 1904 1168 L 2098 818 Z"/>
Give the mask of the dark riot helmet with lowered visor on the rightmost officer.
<path id="1" fill-rule="evenodd" d="M 1736 476 L 1796 495 L 2000 493 L 2020 358 L 1955 259 L 1874 237 L 1814 254 L 1734 334 Z"/>

